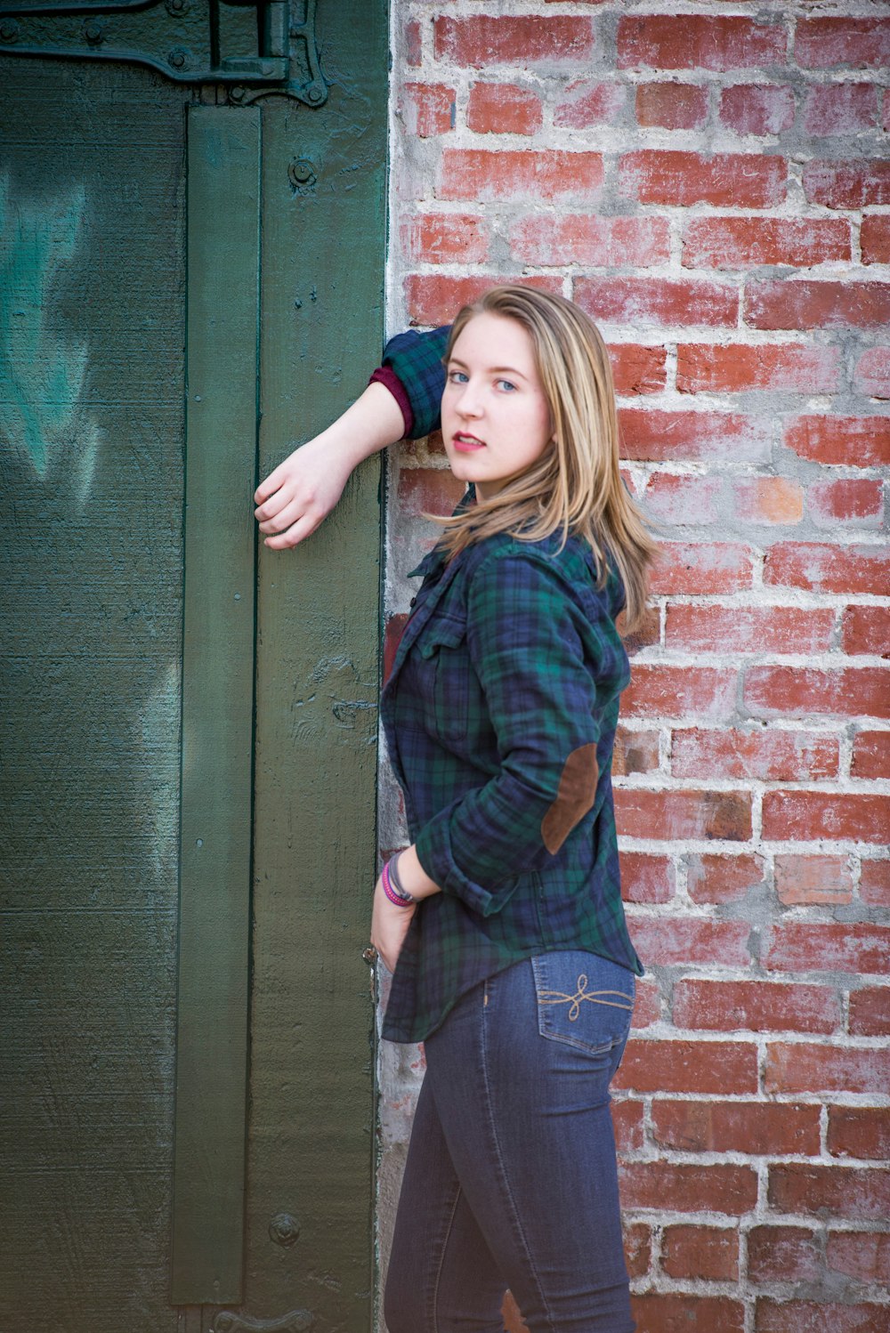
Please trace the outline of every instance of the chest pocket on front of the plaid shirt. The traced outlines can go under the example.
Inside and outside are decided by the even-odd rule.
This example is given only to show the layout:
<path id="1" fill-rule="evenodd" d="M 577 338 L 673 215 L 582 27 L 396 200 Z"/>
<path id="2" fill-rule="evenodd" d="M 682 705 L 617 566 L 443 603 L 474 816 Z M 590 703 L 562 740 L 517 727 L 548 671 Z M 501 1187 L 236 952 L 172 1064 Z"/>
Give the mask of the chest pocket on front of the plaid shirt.
<path id="1" fill-rule="evenodd" d="M 433 616 L 418 641 L 417 681 L 430 730 L 470 749 L 486 721 L 485 700 L 466 647 L 466 620 Z"/>

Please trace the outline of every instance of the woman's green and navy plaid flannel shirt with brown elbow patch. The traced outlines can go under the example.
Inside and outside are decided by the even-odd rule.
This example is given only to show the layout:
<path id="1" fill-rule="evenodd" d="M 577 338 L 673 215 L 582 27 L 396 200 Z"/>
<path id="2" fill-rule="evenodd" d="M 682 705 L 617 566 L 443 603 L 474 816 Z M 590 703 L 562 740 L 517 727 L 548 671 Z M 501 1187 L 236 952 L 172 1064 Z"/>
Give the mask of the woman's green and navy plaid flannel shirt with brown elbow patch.
<path id="1" fill-rule="evenodd" d="M 393 341 L 386 360 L 413 433 L 429 431 L 442 331 Z M 442 892 L 418 905 L 396 966 L 384 1020 L 393 1041 L 421 1041 L 468 989 L 537 953 L 588 949 L 642 972 L 612 798 L 630 678 L 614 625 L 624 589 L 614 569 L 597 587 L 586 543 L 558 545 L 498 535 L 450 561 L 436 548 L 413 571 L 424 581 L 382 720 L 410 837 Z"/>

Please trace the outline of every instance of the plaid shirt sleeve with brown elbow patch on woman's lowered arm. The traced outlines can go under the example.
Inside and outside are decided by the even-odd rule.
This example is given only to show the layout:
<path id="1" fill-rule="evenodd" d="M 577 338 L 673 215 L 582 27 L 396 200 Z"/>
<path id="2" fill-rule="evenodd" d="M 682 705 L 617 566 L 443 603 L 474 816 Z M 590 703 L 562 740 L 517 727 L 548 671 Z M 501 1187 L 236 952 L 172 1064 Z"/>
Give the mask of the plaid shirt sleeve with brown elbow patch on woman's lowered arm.
<path id="1" fill-rule="evenodd" d="M 468 649 L 500 772 L 429 820 L 416 846 L 444 893 L 489 916 L 516 877 L 544 866 L 594 808 L 598 659 L 612 651 L 557 564 L 516 548 L 486 557 L 472 576 Z"/>

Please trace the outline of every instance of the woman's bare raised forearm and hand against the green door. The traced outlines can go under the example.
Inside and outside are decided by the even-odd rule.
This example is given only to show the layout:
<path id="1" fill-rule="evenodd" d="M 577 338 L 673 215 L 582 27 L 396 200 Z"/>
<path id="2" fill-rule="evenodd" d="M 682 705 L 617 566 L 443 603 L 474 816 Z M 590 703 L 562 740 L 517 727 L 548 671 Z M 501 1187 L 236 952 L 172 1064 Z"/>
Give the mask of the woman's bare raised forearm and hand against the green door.
<path id="1" fill-rule="evenodd" d="M 294 449 L 254 492 L 254 517 L 272 551 L 296 547 L 328 517 L 349 473 L 364 459 L 401 440 L 398 403 L 380 383 L 369 384 L 341 417 Z"/>

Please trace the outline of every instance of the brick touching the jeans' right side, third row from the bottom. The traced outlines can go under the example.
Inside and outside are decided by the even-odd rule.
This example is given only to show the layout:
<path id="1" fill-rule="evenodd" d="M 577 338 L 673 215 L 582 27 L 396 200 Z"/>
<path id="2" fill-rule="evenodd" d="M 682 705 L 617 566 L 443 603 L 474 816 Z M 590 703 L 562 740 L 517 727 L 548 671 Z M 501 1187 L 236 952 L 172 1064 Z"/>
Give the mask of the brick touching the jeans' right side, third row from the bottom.
<path id="1" fill-rule="evenodd" d="M 621 1202 L 625 1209 L 654 1208 L 662 1213 L 666 1200 L 670 1200 L 671 1212 L 677 1213 L 739 1216 L 757 1202 L 757 1174 L 750 1166 L 734 1165 L 698 1166 L 660 1161 L 622 1164 Z M 710 1325 L 710 1333 L 713 1328 Z"/>

